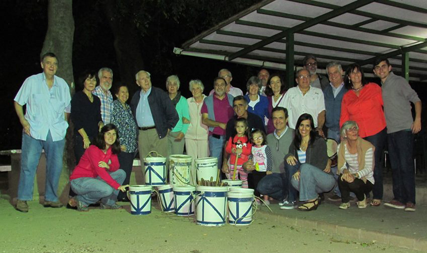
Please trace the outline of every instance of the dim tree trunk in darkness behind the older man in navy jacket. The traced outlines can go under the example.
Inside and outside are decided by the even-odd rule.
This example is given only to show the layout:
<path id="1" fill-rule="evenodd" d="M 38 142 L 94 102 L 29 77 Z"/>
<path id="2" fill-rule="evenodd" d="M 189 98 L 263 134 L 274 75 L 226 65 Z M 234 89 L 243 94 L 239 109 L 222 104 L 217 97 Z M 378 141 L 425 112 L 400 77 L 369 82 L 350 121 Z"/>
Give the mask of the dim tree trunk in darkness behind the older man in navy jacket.
<path id="1" fill-rule="evenodd" d="M 105 1 L 104 12 L 114 34 L 114 48 L 121 82 L 129 87 L 132 96 L 138 88 L 135 74 L 144 69 L 139 32 L 131 15 L 123 17 L 116 15 L 116 5 L 116 0 Z"/>

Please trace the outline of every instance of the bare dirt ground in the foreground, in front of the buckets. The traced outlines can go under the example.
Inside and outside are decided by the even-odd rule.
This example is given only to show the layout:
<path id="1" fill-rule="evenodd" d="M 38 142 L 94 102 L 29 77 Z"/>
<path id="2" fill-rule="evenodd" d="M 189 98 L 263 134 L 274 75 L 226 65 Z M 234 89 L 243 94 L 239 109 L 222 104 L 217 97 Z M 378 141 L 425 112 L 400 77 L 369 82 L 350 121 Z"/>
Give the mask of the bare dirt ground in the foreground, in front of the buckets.
<path id="1" fill-rule="evenodd" d="M 286 226 L 263 212 L 249 226 L 205 227 L 194 216 L 162 213 L 155 201 L 152 213 L 142 216 L 131 215 L 129 203 L 123 204 L 121 210 L 82 213 L 32 201 L 30 211 L 21 213 L 3 195 L 0 252 L 419 252 Z"/>

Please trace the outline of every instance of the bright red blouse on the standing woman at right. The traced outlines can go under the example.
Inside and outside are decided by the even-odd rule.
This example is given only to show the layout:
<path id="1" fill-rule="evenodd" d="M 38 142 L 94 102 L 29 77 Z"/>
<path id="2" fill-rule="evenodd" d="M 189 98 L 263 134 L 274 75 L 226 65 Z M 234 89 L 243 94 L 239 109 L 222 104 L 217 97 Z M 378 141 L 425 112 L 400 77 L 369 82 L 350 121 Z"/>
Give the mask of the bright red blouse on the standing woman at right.
<path id="1" fill-rule="evenodd" d="M 386 126 L 381 87 L 368 83 L 360 90 L 359 96 L 353 90 L 344 94 L 341 102 L 340 127 L 347 120 L 354 120 L 359 125 L 362 138 L 378 134 Z"/>

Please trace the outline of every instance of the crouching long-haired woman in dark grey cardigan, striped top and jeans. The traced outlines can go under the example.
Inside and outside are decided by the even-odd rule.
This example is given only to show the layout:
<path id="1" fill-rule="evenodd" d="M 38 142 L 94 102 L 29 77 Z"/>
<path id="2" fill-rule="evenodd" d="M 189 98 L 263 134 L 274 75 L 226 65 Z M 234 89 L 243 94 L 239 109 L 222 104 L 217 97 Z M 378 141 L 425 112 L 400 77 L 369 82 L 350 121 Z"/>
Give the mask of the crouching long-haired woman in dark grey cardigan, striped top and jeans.
<path id="1" fill-rule="evenodd" d="M 301 114 L 296 126 L 295 138 L 285 156 L 285 169 L 287 176 L 292 176 L 292 186 L 299 191 L 299 200 L 304 201 L 298 210 L 311 211 L 319 205 L 317 194 L 330 191 L 335 178 L 331 173 L 326 142 L 316 136 L 311 115 Z"/>

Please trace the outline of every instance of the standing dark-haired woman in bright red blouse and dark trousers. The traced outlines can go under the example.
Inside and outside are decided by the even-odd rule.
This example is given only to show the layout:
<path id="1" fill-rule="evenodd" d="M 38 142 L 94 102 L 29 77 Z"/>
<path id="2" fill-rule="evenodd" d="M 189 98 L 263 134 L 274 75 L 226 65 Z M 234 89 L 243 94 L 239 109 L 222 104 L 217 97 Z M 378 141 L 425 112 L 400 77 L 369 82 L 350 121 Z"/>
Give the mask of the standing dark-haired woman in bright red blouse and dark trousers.
<path id="1" fill-rule="evenodd" d="M 368 83 L 358 64 L 347 68 L 344 83 L 349 91 L 341 102 L 340 127 L 347 120 L 356 121 L 359 136 L 375 146 L 375 184 L 371 205 L 379 206 L 383 197 L 381 156 L 387 137 L 381 87 L 376 83 Z"/>

